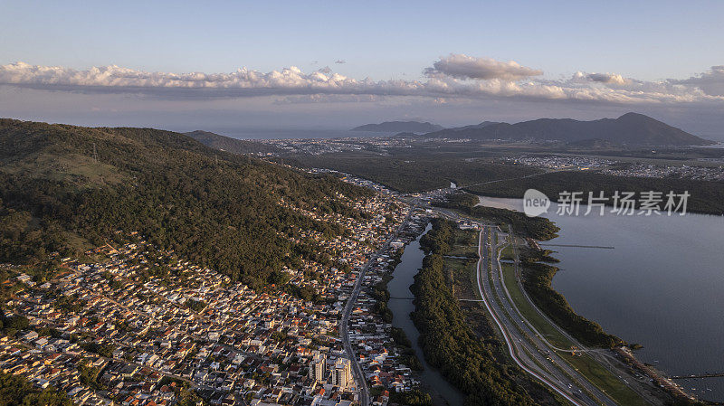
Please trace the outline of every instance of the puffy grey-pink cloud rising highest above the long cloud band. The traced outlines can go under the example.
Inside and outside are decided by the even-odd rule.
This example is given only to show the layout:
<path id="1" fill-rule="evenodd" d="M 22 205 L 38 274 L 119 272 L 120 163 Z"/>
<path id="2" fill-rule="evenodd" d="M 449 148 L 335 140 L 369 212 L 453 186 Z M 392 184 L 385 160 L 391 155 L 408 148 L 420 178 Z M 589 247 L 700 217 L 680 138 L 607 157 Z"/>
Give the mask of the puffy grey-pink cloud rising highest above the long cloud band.
<path id="1" fill-rule="evenodd" d="M 475 58 L 462 53 L 451 53 L 424 70 L 427 76 L 445 75 L 457 79 L 521 80 L 543 74 L 543 71 L 527 68 L 516 61 L 496 61 L 490 58 Z"/>

